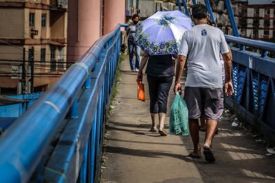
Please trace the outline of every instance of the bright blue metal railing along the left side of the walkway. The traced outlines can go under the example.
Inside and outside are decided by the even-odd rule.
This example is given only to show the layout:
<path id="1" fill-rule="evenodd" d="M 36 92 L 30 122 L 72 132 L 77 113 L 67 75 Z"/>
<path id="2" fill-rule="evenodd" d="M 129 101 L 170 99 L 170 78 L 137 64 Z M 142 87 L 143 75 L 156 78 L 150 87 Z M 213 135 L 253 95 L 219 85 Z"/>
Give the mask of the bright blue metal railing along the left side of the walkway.
<path id="1" fill-rule="evenodd" d="M 0 137 L 0 182 L 94 182 L 122 26 L 97 40 Z"/>

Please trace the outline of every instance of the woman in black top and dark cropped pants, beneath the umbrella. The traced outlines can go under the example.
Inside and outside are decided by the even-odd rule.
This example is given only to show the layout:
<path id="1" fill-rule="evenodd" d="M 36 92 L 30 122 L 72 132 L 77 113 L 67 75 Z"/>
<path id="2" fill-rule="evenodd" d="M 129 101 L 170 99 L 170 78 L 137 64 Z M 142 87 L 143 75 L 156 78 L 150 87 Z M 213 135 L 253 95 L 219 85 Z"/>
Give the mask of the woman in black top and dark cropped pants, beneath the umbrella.
<path id="1" fill-rule="evenodd" d="M 173 83 L 175 74 L 172 55 L 150 56 L 146 51 L 142 55 L 140 71 L 138 71 L 137 80 L 142 81 L 143 69 L 146 67 L 147 82 L 150 95 L 150 113 L 152 119 L 151 132 L 157 131 L 157 119 L 159 119 L 159 134 L 166 136 L 164 130 L 164 120 L 167 110 L 167 99 L 170 87 Z"/>

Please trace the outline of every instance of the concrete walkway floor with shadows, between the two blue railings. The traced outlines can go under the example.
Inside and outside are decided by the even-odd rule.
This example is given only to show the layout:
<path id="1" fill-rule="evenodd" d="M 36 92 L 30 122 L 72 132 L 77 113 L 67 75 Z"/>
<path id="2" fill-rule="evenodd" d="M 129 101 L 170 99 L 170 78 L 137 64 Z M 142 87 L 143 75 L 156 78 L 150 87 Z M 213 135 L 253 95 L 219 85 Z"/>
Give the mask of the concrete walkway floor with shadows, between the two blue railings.
<path id="1" fill-rule="evenodd" d="M 122 62 L 121 70 L 105 135 L 100 182 L 275 182 L 274 156 L 265 155 L 265 146 L 254 142 L 252 132 L 232 127 L 229 112 L 223 114 L 221 130 L 214 137 L 216 162 L 212 164 L 204 157 L 188 157 L 192 151 L 190 136 L 148 132 L 147 85 L 146 102 L 138 101 L 137 73 L 129 71 L 128 61 Z M 175 96 L 172 90 L 170 94 L 168 106 Z M 203 143 L 204 132 L 200 134 Z"/>

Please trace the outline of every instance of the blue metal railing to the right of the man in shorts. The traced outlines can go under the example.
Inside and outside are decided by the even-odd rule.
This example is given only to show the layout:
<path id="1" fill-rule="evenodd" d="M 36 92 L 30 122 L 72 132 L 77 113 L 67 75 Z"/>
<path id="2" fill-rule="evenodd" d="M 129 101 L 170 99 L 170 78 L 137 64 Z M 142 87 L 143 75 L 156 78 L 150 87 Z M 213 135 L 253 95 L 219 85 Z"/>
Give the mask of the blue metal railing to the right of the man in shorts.
<path id="1" fill-rule="evenodd" d="M 228 35 L 225 39 L 242 45 L 232 47 L 234 97 L 225 99 L 225 103 L 275 143 L 275 59 L 244 49 L 248 46 L 266 53 L 275 51 L 275 43 Z"/>

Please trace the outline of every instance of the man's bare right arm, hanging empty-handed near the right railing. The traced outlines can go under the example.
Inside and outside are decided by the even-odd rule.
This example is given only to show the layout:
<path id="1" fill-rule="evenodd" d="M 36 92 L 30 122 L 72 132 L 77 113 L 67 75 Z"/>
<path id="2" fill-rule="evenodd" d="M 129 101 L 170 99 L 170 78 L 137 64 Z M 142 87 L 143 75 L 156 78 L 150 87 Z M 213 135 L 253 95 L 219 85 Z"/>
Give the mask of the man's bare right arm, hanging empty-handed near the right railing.
<path id="1" fill-rule="evenodd" d="M 229 49 L 230 50 L 230 49 Z M 224 84 L 224 93 L 226 96 L 231 96 L 234 93 L 232 85 L 232 53 L 231 50 L 228 53 L 223 53 L 223 62 L 225 70 L 225 84 Z"/>

